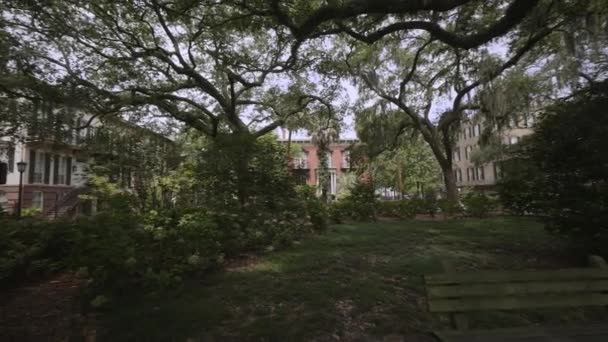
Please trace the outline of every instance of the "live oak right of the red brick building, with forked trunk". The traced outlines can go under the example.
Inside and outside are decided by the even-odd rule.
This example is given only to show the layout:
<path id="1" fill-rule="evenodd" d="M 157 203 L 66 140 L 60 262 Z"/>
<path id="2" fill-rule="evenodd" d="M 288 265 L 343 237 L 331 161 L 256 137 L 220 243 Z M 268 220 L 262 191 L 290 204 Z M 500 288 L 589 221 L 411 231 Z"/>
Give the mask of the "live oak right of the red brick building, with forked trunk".
<path id="1" fill-rule="evenodd" d="M 552 52 L 546 42 L 588 10 L 564 1 L 464 3 L 446 11 L 349 17 L 346 24 L 332 21 L 333 29 L 326 31 L 341 34 L 326 70 L 357 82 L 360 111 L 387 105 L 402 114 L 397 131 L 420 133 L 454 201 L 452 147 L 458 128 L 475 114 L 491 115 L 480 96 L 482 87 L 516 65 L 540 63 L 528 54 L 548 57 Z M 521 6 L 529 7 L 519 12 Z"/>

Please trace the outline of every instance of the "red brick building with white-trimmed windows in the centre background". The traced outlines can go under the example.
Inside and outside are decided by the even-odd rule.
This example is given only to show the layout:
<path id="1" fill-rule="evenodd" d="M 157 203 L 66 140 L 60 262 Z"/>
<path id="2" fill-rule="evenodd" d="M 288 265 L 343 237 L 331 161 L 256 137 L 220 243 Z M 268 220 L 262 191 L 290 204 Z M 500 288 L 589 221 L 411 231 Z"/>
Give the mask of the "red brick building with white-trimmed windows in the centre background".
<path id="1" fill-rule="evenodd" d="M 283 141 L 285 142 L 285 141 Z M 337 196 L 345 191 L 349 181 L 353 179 L 354 166 L 351 162 L 351 148 L 358 141 L 355 139 L 339 140 L 329 146 L 327 156 L 329 168 L 329 189 L 327 193 Z M 298 149 L 292 160 L 294 174 L 302 184 L 319 186 L 319 158 L 317 146 L 310 139 L 291 141 Z"/>

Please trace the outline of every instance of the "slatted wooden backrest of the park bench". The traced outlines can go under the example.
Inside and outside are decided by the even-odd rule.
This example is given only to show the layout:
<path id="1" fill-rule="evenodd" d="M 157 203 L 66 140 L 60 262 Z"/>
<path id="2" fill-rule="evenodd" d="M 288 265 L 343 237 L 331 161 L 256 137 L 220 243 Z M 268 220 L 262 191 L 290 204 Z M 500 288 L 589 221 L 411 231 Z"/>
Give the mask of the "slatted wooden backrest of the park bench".
<path id="1" fill-rule="evenodd" d="M 608 269 L 479 271 L 424 278 L 430 312 L 608 305 Z"/>

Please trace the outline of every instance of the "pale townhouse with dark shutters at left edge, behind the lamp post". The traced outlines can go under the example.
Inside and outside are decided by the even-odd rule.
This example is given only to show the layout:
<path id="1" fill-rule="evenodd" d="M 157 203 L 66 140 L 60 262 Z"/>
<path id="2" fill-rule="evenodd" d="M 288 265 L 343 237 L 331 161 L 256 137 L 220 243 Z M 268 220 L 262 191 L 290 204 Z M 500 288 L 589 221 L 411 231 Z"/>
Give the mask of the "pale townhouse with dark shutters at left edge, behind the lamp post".
<path id="1" fill-rule="evenodd" d="M 37 115 L 20 130 L 18 139 L 0 137 L 0 205 L 7 212 L 17 207 L 20 176 L 22 209 L 41 212 L 66 201 L 68 194 L 77 199 L 77 189 L 86 184 L 87 163 L 79 156 L 92 128 L 76 128 L 86 125 L 87 118 L 70 116 L 66 120 L 65 113 L 52 110 L 38 111 Z M 23 175 L 19 162 L 26 163 Z"/>

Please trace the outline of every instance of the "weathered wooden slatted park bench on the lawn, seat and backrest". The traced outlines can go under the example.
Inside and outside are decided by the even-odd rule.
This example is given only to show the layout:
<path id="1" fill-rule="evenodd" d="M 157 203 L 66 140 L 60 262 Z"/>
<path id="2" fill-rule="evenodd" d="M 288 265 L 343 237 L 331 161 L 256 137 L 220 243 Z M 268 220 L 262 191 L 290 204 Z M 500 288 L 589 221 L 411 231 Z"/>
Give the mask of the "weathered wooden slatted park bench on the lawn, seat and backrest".
<path id="1" fill-rule="evenodd" d="M 572 328 L 467 330 L 467 312 L 608 306 L 608 265 L 590 256 L 593 268 L 455 272 L 424 277 L 428 309 L 449 314 L 456 330 L 434 332 L 441 341 L 608 341 L 608 323 Z"/>

